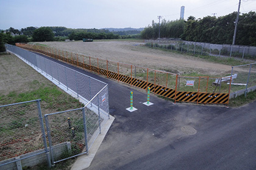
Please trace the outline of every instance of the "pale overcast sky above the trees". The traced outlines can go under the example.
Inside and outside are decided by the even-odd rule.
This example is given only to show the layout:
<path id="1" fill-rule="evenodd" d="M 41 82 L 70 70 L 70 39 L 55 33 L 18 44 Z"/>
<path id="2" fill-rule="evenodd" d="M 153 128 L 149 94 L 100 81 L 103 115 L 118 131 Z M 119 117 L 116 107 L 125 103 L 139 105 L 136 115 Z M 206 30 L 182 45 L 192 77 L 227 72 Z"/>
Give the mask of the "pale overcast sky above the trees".
<path id="1" fill-rule="evenodd" d="M 239 0 L 0 0 L 0 29 L 64 26 L 73 29 L 140 28 L 192 15 L 224 16 L 238 10 Z M 256 0 L 241 0 L 241 13 L 256 11 Z"/>

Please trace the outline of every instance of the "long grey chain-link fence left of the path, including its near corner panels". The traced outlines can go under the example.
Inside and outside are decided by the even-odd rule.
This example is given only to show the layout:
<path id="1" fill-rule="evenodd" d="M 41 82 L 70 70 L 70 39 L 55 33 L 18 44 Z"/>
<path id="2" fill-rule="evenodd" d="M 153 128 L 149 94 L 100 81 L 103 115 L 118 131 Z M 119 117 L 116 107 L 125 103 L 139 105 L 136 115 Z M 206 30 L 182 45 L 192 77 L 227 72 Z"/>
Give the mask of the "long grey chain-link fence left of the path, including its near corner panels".
<path id="1" fill-rule="evenodd" d="M 19 47 L 6 48 L 85 103 L 80 109 L 45 115 L 52 163 L 88 154 L 109 118 L 108 84 Z"/>

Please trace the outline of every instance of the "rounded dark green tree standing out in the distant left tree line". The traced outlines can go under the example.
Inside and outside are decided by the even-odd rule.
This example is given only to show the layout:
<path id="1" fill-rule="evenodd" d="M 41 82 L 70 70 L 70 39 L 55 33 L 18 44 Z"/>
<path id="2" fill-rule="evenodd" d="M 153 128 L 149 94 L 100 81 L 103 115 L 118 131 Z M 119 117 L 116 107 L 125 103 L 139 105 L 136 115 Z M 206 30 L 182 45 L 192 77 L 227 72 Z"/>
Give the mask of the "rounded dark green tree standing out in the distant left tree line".
<path id="1" fill-rule="evenodd" d="M 54 33 L 49 27 L 40 27 L 34 30 L 33 41 L 54 41 Z"/>

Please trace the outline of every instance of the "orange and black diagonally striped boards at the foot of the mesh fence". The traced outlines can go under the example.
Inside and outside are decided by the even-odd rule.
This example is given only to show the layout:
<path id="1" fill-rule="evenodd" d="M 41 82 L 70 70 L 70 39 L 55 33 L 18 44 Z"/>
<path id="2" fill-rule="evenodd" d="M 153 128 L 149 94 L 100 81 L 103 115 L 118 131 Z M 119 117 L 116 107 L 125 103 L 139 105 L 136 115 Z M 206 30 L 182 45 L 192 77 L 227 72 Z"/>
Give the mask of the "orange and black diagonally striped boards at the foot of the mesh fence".
<path id="1" fill-rule="evenodd" d="M 73 64 L 78 67 L 82 67 L 83 69 L 87 69 L 91 72 L 98 73 L 99 75 L 104 75 L 105 77 L 112 78 L 118 81 L 121 81 L 126 84 L 130 84 L 130 86 L 139 87 L 141 89 L 148 89 L 150 87 L 151 92 L 154 94 L 161 95 L 166 98 L 171 98 L 176 101 L 181 102 L 193 102 L 193 103 L 203 103 L 203 104 L 228 104 L 229 103 L 229 94 L 221 94 L 221 93 L 203 93 L 203 92 L 180 92 L 175 89 L 171 89 L 168 87 L 160 86 L 154 83 L 149 83 L 148 81 L 140 80 L 138 78 L 133 78 L 127 75 L 122 75 L 116 72 L 112 72 L 110 70 L 101 69 L 96 66 L 91 66 L 89 64 L 80 63 L 76 60 L 71 60 L 65 58 L 60 55 L 53 55 L 49 52 L 44 52 L 43 50 L 31 49 L 24 46 L 21 46 L 24 49 L 32 50 L 40 53 L 44 53 L 45 55 L 52 56 L 55 59 L 62 60 L 66 63 Z M 177 81 L 177 80 L 176 80 Z M 177 82 L 176 82 L 177 86 Z"/>

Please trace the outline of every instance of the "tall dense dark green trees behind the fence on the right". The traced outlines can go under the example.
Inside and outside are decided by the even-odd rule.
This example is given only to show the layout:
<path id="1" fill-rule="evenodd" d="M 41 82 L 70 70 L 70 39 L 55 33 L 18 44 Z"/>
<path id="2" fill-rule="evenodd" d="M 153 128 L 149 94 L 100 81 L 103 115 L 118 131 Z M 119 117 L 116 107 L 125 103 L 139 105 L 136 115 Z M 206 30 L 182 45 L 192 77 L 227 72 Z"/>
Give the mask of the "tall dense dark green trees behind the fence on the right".
<path id="1" fill-rule="evenodd" d="M 209 42 L 212 44 L 232 44 L 235 30 L 236 13 L 216 18 L 205 16 L 196 19 L 194 16 L 185 20 L 163 21 L 160 23 L 160 38 L 181 38 L 186 41 Z M 159 24 L 152 21 L 141 32 L 143 39 L 158 38 Z M 256 13 L 243 13 L 239 17 L 236 44 L 256 46 Z"/>

